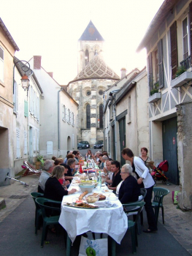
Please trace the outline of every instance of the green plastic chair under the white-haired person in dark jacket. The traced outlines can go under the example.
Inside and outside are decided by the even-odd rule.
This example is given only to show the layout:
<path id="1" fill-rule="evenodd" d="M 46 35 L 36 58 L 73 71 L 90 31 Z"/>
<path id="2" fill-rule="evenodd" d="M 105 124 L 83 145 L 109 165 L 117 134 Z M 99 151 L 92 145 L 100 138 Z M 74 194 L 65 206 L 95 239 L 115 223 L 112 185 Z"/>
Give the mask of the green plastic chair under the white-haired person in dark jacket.
<path id="1" fill-rule="evenodd" d="M 131 230 L 132 252 L 134 254 L 137 252 L 136 246 L 138 246 L 137 222 L 143 206 L 145 206 L 145 202 L 134 202 L 134 203 L 123 204 L 125 213 L 137 212 L 134 221 L 128 220 L 128 229 Z"/>

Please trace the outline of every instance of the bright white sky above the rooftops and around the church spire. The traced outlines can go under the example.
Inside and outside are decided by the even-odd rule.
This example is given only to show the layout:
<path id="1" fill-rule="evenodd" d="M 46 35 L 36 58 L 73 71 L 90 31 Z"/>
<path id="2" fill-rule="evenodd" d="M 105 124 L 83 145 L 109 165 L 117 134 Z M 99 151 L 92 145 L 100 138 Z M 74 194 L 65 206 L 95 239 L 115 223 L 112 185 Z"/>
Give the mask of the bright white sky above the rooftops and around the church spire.
<path id="1" fill-rule="evenodd" d="M 146 66 L 136 53 L 164 0 L 1 0 L 0 17 L 15 40 L 15 56 L 42 56 L 42 67 L 66 85 L 77 75 L 77 41 L 90 20 L 104 38 L 104 61 L 120 76 Z"/>

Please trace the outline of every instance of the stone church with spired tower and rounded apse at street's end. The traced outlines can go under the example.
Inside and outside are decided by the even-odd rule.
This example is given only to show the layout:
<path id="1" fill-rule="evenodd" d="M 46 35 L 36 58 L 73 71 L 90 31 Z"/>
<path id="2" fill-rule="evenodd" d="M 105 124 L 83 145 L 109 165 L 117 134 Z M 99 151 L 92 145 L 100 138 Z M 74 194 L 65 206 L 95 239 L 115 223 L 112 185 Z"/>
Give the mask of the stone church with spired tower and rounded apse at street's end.
<path id="1" fill-rule="evenodd" d="M 104 39 L 93 25 L 78 40 L 77 76 L 67 91 L 79 104 L 77 142 L 103 140 L 103 93 L 120 78 L 103 59 Z"/>

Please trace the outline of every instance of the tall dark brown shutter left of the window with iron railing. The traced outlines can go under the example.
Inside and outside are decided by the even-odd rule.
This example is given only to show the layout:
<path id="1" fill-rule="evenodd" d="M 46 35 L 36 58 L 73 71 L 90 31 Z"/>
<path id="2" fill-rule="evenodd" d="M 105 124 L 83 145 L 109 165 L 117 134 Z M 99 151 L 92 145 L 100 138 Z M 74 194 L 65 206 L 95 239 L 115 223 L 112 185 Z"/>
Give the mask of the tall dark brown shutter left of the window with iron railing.
<path id="1" fill-rule="evenodd" d="M 178 67 L 178 55 L 177 55 L 177 21 L 175 20 L 172 26 L 170 26 L 171 37 L 171 59 L 172 59 L 172 79 L 175 78 Z"/>

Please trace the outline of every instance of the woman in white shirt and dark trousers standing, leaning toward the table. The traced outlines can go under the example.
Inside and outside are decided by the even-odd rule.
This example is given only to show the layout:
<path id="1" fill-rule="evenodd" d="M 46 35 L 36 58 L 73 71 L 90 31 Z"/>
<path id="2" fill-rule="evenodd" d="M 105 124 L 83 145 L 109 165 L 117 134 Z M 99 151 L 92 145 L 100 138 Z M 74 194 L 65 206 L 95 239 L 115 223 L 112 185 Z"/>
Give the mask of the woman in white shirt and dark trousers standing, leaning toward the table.
<path id="1" fill-rule="evenodd" d="M 153 181 L 152 176 L 150 175 L 150 172 L 147 168 L 147 166 L 144 164 L 142 159 L 139 157 L 134 157 L 134 153 L 129 148 L 123 148 L 123 151 L 121 151 L 122 157 L 125 160 L 128 160 L 131 162 L 132 168 L 135 168 L 135 171 L 139 178 L 137 179 L 138 184 L 144 184 L 145 189 L 147 189 L 147 195 L 144 198 L 145 201 L 145 211 L 147 212 L 147 222 L 149 227 L 147 230 L 143 230 L 145 233 L 151 233 L 157 230 L 157 225 L 155 222 L 155 214 L 153 211 L 151 199 L 153 194 L 153 185 L 155 182 Z"/>

